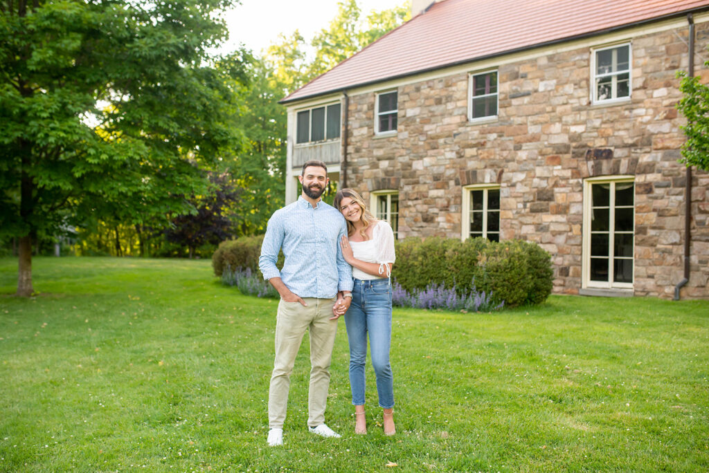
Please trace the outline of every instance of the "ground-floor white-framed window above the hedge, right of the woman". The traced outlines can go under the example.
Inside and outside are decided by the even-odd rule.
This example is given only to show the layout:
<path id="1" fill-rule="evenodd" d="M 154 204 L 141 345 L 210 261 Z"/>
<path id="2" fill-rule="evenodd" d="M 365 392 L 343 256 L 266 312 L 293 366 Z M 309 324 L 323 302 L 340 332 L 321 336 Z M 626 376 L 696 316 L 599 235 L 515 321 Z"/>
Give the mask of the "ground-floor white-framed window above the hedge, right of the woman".
<path id="1" fill-rule="evenodd" d="M 462 202 L 462 239 L 482 236 L 500 241 L 500 186 L 465 186 Z"/>

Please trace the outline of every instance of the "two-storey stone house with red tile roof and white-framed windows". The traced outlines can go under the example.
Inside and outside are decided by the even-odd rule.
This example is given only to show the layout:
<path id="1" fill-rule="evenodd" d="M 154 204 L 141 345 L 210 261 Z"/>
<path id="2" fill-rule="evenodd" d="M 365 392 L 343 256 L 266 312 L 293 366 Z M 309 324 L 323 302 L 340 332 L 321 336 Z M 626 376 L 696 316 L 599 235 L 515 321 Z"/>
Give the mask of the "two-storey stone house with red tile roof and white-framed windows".
<path id="1" fill-rule="evenodd" d="M 709 81 L 709 0 L 413 10 L 281 101 L 286 202 L 321 159 L 399 239 L 535 241 L 556 293 L 709 297 L 709 174 L 675 108 L 678 71 Z"/>

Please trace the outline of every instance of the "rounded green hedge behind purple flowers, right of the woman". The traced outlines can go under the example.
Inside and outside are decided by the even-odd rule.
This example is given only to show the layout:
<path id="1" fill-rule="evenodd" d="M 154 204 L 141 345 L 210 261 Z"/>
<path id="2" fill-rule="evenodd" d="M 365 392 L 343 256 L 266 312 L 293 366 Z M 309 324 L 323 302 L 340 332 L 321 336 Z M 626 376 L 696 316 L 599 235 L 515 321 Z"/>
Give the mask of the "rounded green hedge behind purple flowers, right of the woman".
<path id="1" fill-rule="evenodd" d="M 553 271 L 549 253 L 527 241 L 412 237 L 396 243 L 392 276 L 409 292 L 442 284 L 462 294 L 474 284 L 516 307 L 544 302 L 552 293 Z"/>

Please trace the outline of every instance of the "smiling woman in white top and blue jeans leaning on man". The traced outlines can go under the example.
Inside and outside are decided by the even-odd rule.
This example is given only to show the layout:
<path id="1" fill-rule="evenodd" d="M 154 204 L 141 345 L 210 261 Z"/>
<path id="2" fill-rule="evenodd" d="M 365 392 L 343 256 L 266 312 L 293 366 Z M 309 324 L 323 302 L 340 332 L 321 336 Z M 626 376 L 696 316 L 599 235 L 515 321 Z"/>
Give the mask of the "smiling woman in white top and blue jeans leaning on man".
<path id="1" fill-rule="evenodd" d="M 384 434 L 394 435 L 393 376 L 389 365 L 391 346 L 391 266 L 394 235 L 389 223 L 367 212 L 364 200 L 352 189 L 335 195 L 334 207 L 347 220 L 348 238 L 342 236 L 342 256 L 352 265 L 352 304 L 345 314 L 350 341 L 350 387 L 354 404 L 354 433 L 367 433 L 364 413 L 364 363 L 367 334 L 376 375 L 379 406 L 384 409 Z"/>

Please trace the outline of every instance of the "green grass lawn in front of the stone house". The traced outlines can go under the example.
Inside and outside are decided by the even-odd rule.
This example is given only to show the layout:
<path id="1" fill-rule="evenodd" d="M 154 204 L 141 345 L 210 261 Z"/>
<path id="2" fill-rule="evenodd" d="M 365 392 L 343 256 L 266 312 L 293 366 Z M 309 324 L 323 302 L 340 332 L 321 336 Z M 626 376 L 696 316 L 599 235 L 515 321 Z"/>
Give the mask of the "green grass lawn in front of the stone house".
<path id="1" fill-rule="evenodd" d="M 706 471 L 709 301 L 550 297 L 494 314 L 395 309 L 397 435 L 355 436 L 340 323 L 306 433 L 308 342 L 267 448 L 277 301 L 208 261 L 0 259 L 0 471 Z M 396 463 L 396 467 L 387 467 Z"/>

